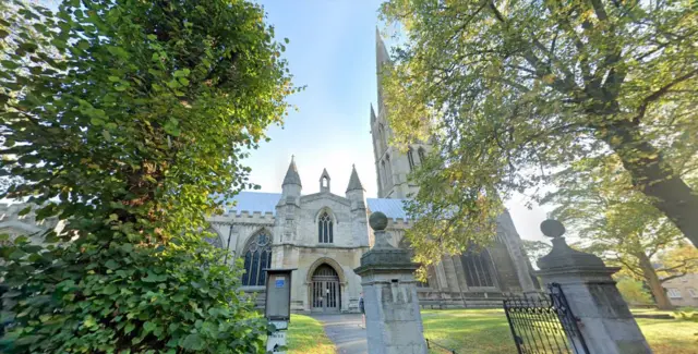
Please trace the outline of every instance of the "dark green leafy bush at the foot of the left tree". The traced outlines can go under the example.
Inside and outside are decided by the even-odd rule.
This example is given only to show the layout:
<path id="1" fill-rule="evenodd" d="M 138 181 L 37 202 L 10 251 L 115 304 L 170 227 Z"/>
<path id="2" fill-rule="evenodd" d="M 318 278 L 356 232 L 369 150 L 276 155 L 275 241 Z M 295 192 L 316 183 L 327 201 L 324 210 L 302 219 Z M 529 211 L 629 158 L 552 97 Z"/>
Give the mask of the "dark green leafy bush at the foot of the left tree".
<path id="1" fill-rule="evenodd" d="M 198 246 L 96 249 L 75 242 L 36 253 L 25 237 L 16 240 L 2 251 L 11 289 L 5 320 L 14 322 L 4 350 L 261 352 L 266 325 L 236 290 L 240 267 L 224 265 L 206 242 Z"/>

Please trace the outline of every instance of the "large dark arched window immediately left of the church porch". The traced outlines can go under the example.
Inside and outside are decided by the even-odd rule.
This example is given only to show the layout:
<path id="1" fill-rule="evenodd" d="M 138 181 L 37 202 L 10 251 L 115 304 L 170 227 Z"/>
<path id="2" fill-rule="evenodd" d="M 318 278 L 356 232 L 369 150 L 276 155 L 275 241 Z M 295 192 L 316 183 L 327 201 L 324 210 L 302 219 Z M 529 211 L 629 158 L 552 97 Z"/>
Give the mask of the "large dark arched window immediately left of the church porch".
<path id="1" fill-rule="evenodd" d="M 244 252 L 242 285 L 263 286 L 266 281 L 264 268 L 272 266 L 272 236 L 262 231 L 252 236 Z"/>

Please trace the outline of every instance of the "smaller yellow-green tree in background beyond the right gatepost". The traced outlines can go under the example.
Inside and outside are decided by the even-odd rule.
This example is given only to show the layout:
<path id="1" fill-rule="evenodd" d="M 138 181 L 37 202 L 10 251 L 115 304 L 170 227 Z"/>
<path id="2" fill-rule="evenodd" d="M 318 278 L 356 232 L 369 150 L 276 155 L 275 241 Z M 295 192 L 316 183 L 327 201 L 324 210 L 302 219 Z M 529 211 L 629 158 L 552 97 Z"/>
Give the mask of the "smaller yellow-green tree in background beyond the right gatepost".
<path id="1" fill-rule="evenodd" d="M 673 306 L 662 283 L 698 271 L 698 256 L 691 259 L 686 253 L 681 259 L 675 257 L 679 260 L 661 261 L 670 249 L 681 249 L 676 247 L 684 236 L 631 186 L 630 179 L 616 156 L 582 159 L 555 174 L 552 181 L 557 190 L 542 202 L 556 205 L 552 216 L 580 239 L 578 247 L 623 266 L 647 282 L 659 308 L 670 309 Z"/>

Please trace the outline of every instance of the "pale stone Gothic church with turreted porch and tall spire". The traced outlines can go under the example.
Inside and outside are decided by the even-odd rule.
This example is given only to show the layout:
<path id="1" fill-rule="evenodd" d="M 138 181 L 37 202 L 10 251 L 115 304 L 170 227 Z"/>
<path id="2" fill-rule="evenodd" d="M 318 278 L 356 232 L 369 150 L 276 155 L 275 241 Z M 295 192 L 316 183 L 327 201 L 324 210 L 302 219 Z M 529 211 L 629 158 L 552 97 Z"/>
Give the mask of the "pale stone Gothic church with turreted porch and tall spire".
<path id="1" fill-rule="evenodd" d="M 377 66 L 388 61 L 376 34 Z M 242 192 L 236 205 L 210 219 L 218 237 L 209 240 L 231 255 L 244 259 L 245 292 L 264 298 L 265 268 L 296 268 L 292 273 L 291 308 L 294 312 L 358 312 L 361 279 L 353 272 L 373 243 L 369 215 L 384 212 L 393 245 L 407 247 L 405 231 L 412 221 L 404 200 L 417 186 L 408 174 L 421 163 L 430 146 L 417 144 L 402 154 L 388 145 L 392 130 L 378 88 L 377 114 L 370 113 L 377 175 L 377 198 L 366 197 L 353 169 L 344 186 L 333 186 L 329 173 L 318 176 L 320 192 L 303 194 L 303 182 L 291 159 L 281 193 Z M 333 190 L 334 187 L 334 190 Z M 314 188 L 313 188 L 314 190 Z M 339 191 L 338 191 L 339 190 Z M 36 224 L 32 216 L 17 217 L 21 206 L 0 208 L 0 233 L 34 234 L 52 224 Z M 538 284 L 508 212 L 500 216 L 495 242 L 482 252 L 444 257 L 419 283 L 423 307 L 500 306 L 503 293 L 528 292 Z"/>

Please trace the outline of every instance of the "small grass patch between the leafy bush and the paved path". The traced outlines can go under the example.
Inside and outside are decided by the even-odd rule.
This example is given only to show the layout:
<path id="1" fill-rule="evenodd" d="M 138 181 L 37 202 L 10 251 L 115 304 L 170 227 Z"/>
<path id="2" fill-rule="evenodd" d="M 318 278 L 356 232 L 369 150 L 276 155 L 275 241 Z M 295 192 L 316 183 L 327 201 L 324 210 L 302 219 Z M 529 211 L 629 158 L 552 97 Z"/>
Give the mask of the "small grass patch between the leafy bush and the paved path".
<path id="1" fill-rule="evenodd" d="M 335 354 L 323 325 L 312 317 L 291 315 L 287 338 L 290 354 Z"/>

